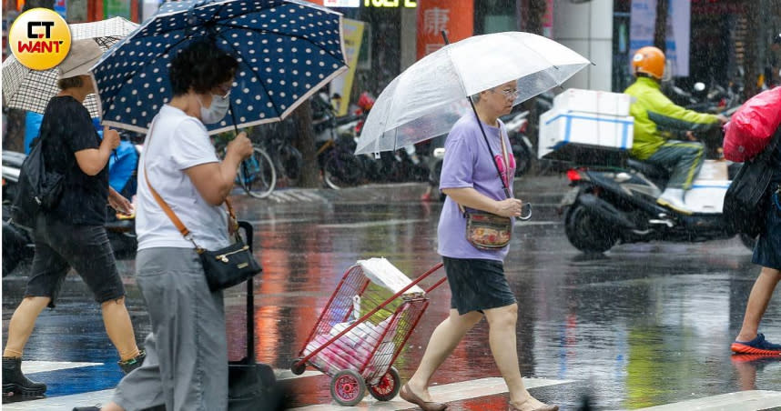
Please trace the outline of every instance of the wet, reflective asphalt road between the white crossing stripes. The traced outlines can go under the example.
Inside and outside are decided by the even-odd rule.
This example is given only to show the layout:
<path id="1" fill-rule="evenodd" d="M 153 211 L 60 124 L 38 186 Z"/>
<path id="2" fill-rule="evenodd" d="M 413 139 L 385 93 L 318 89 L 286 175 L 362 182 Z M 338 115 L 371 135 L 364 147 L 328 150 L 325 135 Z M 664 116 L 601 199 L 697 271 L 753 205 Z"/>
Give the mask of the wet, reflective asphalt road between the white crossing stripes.
<path id="1" fill-rule="evenodd" d="M 418 200 L 423 186 L 317 190 L 279 201 L 236 196 L 239 216 L 256 227 L 255 248 L 264 266 L 255 283 L 260 362 L 289 367 L 356 260 L 384 256 L 409 276 L 440 261 L 435 241 L 441 206 Z M 505 261 L 520 307 L 523 376 L 573 381 L 534 388 L 535 396 L 563 409 L 576 409 L 583 395 L 600 409 L 632 409 L 747 389 L 781 390 L 781 358 L 744 361 L 729 352 L 759 271 L 740 241 L 619 245 L 604 256 L 584 256 L 567 242 L 554 211 L 564 190 L 559 177 L 518 185 L 516 192 L 535 204 L 535 216 L 516 227 Z M 141 342 L 149 326 L 134 263 L 119 262 L 119 269 Z M 24 275 L 17 271 L 3 281 L 4 340 Z M 447 315 L 449 300 L 447 287 L 431 293 L 431 306 L 395 363 L 402 380 Z M 776 296 L 760 327 L 771 341 L 781 340 L 778 302 Z M 238 359 L 245 350 L 243 288 L 228 291 L 226 304 L 230 356 Z M 433 382 L 499 376 L 487 331 L 485 322 L 476 326 Z M 68 381 L 46 380 L 44 373 L 50 395 L 111 387 L 120 377 L 99 307 L 76 276 L 66 281 L 56 310 L 39 318 L 25 357 L 108 363 Z M 328 383 L 325 376 L 294 380 L 295 406 L 330 403 Z M 451 409 L 506 409 L 505 398 L 464 401 Z"/>

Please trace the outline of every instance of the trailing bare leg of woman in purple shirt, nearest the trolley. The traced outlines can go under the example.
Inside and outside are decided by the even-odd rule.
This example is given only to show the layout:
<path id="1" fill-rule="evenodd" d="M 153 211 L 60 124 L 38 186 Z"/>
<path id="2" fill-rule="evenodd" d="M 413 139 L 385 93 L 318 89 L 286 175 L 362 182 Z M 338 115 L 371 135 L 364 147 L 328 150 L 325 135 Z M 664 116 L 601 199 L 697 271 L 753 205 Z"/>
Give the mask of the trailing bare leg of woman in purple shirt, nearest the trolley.
<path id="1" fill-rule="evenodd" d="M 459 316 L 458 310 L 451 309 L 450 316 L 440 323 L 431 334 L 429 345 L 421 359 L 421 365 L 407 382 L 413 393 L 423 401 L 431 401 L 429 380 L 441 366 L 445 358 L 451 355 L 453 349 L 461 342 L 472 326 L 482 320 L 482 314 L 477 311 Z"/>

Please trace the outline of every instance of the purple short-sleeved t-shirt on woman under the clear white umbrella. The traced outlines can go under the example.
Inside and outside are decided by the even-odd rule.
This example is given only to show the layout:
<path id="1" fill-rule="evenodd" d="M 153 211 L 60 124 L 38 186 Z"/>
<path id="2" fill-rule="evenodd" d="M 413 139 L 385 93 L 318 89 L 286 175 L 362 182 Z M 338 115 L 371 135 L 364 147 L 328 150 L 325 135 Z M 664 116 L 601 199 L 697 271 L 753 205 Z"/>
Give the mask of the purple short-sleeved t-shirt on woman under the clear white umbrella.
<path id="1" fill-rule="evenodd" d="M 504 124 L 499 122 L 499 127 L 482 124 L 485 135 L 491 144 L 496 164 L 500 170 L 510 169 L 505 173 L 512 193 L 512 177 L 515 175 L 515 158 L 512 156 L 510 141 Z M 509 167 L 504 166 L 502 159 L 502 142 L 499 140 L 500 127 L 502 138 L 507 147 Z M 440 190 L 444 188 L 472 187 L 482 195 L 503 200 L 504 194 L 502 181 L 496 175 L 496 166 L 492 164 L 491 153 L 482 138 L 480 126 L 474 113 L 462 116 L 445 140 L 445 157 L 442 162 L 440 176 Z M 514 221 L 514 220 L 513 220 Z M 480 258 L 487 260 L 503 261 L 507 256 L 508 247 L 494 251 L 485 251 L 472 246 L 466 240 L 466 218 L 462 215 L 458 204 L 450 196 L 445 200 L 440 215 L 440 223 L 437 228 L 439 247 L 437 252 L 441 256 L 451 258 Z"/>

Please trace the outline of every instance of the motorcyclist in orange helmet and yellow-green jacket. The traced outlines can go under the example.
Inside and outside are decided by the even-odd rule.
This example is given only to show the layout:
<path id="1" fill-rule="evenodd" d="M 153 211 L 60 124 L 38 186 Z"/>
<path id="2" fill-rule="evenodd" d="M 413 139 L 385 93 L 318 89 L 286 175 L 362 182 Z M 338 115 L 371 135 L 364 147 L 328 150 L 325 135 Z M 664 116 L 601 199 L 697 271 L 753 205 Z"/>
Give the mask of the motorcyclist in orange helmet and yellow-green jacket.
<path id="1" fill-rule="evenodd" d="M 693 141 L 692 133 L 725 124 L 727 118 L 697 113 L 670 101 L 661 91 L 664 64 L 664 53 L 654 46 L 639 49 L 632 59 L 636 80 L 624 91 L 634 97 L 629 110 L 634 116 L 631 154 L 671 170 L 657 203 L 691 214 L 685 205 L 685 191 L 691 188 L 703 165 L 703 144 Z"/>

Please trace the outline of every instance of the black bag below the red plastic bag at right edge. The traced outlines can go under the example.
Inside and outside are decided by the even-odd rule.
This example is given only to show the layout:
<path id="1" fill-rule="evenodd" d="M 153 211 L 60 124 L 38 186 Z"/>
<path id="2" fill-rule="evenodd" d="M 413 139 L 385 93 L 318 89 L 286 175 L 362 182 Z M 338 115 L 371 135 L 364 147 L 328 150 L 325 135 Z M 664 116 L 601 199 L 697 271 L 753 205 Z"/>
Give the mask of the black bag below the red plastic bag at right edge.
<path id="1" fill-rule="evenodd" d="M 735 234 L 759 236 L 765 230 L 767 207 L 770 206 L 770 181 L 781 165 L 772 164 L 781 127 L 765 150 L 740 167 L 724 197 L 724 218 Z"/>

